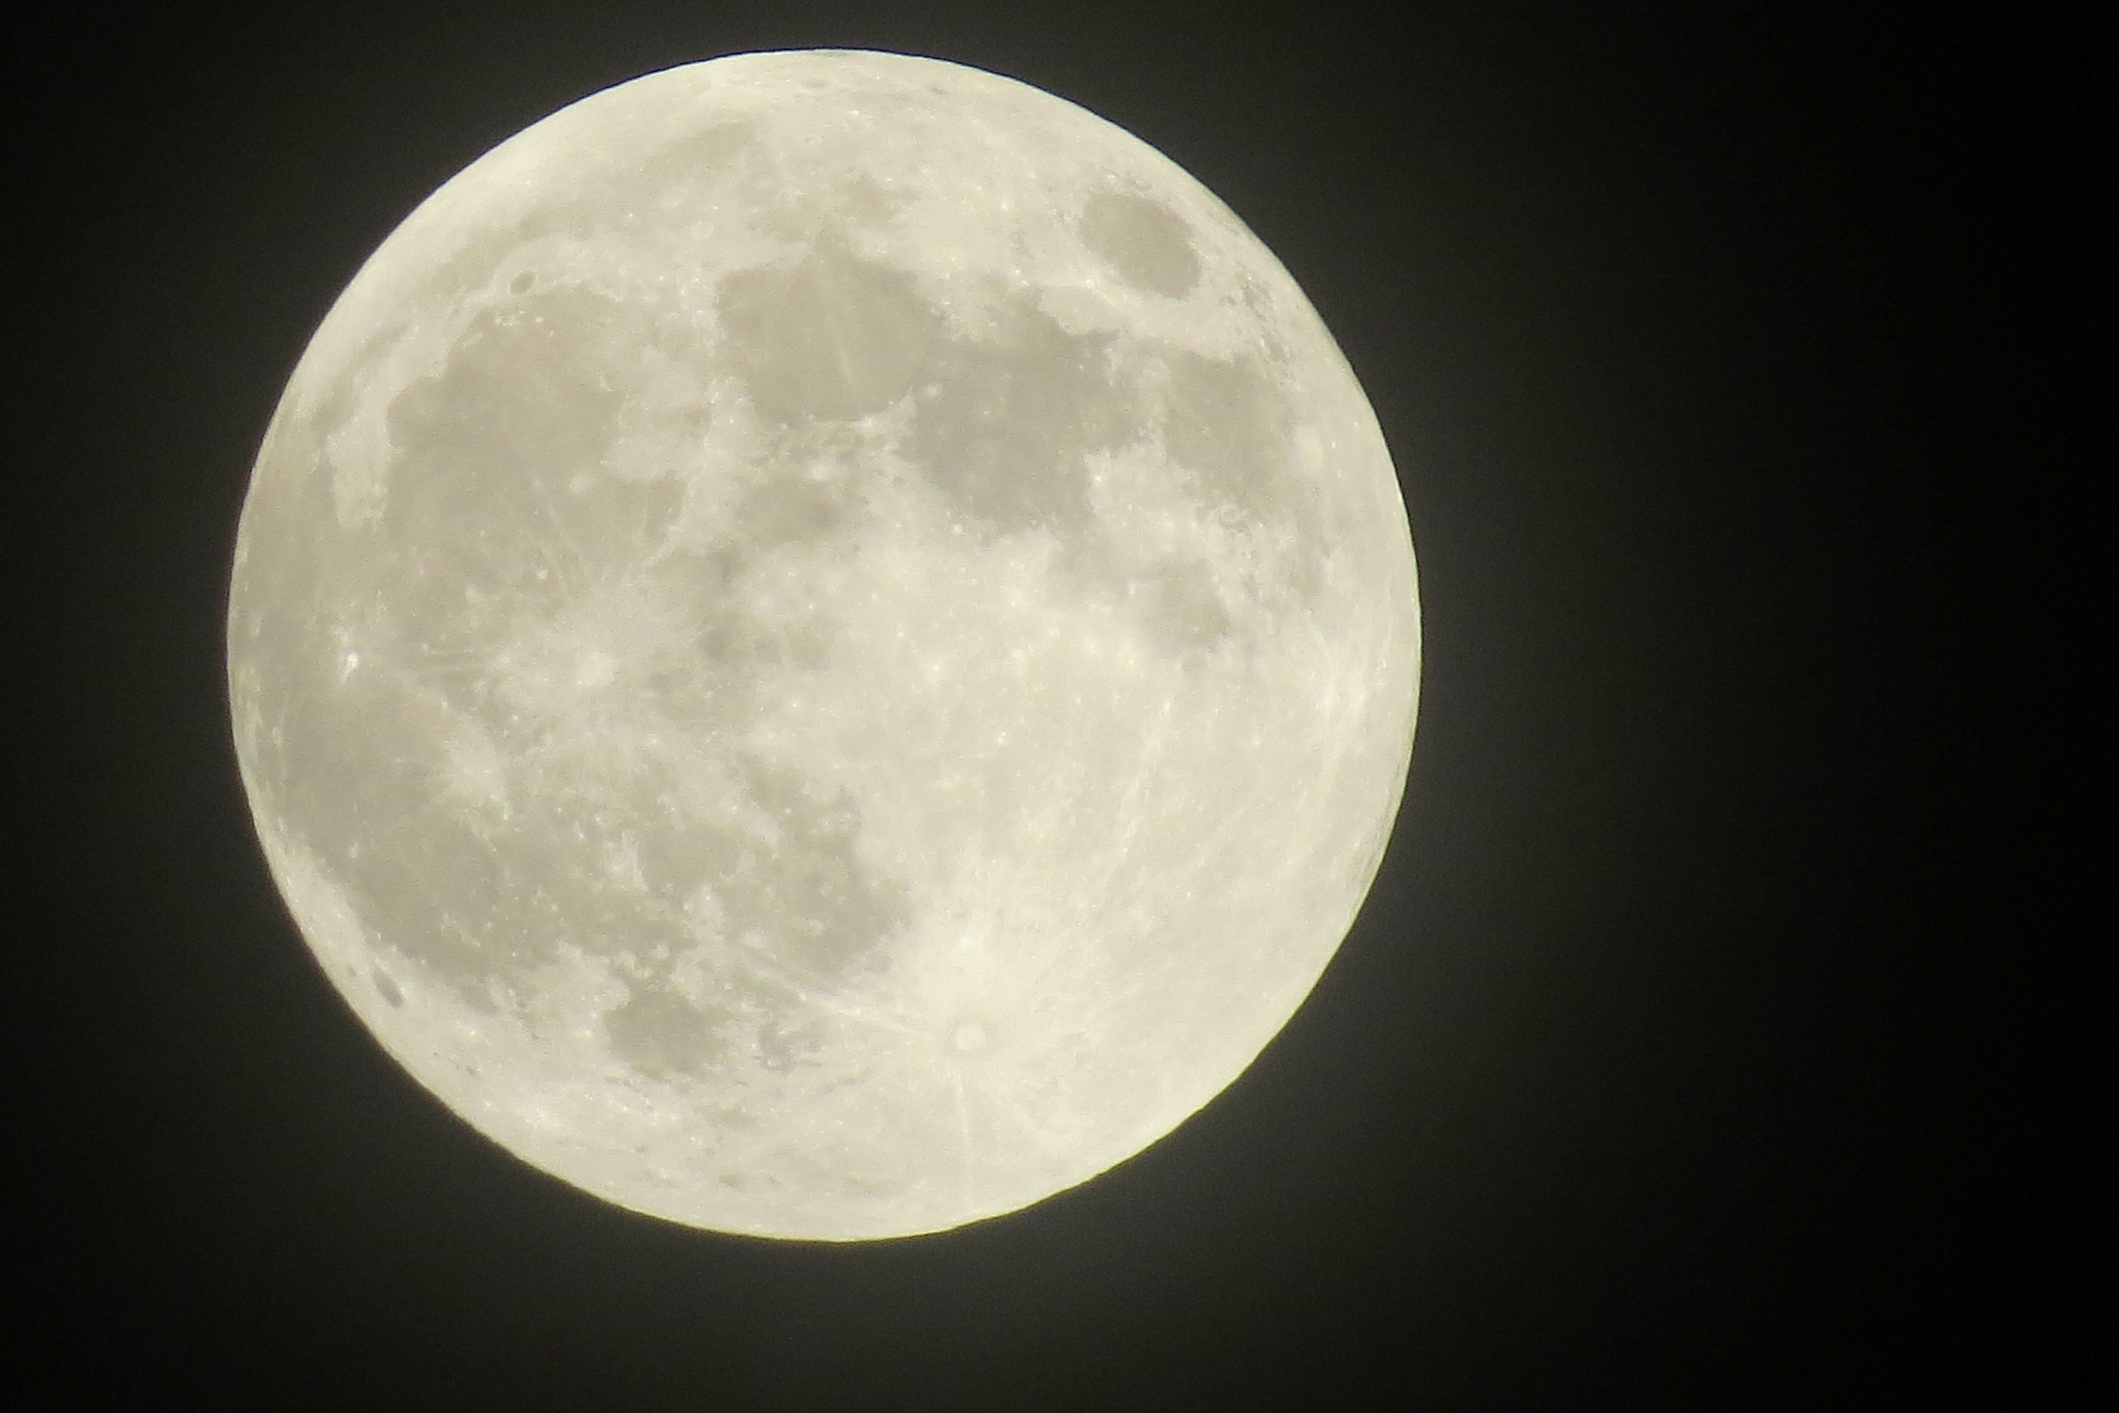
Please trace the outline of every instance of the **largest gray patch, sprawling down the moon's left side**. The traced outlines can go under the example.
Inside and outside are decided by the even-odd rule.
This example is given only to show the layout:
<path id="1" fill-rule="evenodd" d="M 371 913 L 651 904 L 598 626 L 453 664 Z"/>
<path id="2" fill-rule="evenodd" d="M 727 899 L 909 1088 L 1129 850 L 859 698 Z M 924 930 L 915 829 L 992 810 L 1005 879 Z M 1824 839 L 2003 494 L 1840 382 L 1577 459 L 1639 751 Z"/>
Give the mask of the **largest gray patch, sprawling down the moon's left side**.
<path id="1" fill-rule="evenodd" d="M 801 307 L 809 290 L 822 318 L 848 278 L 890 299 L 888 280 L 843 265 L 778 294 Z M 348 561 L 335 585 L 390 642 L 354 669 L 305 648 L 328 686 L 280 718 L 278 754 L 301 763 L 280 807 L 367 926 L 475 1008 L 526 1000 L 562 947 L 655 970 L 640 938 L 678 941 L 701 890 L 729 938 L 805 979 L 839 977 L 905 919 L 903 894 L 858 858 L 850 801 L 727 746 L 756 676 L 822 665 L 831 638 L 820 619 L 752 614 L 744 574 L 845 527 L 858 502 L 767 475 L 727 544 L 667 551 L 682 483 L 598 475 L 629 358 L 655 339 L 604 297 L 536 290 L 481 311 L 447 364 L 396 396 L 379 525 L 396 553 Z M 852 411 L 867 388 L 856 366 L 822 396 Z M 742 794 L 735 822 L 687 807 L 701 758 Z M 697 1036 L 725 1025 L 653 981 L 606 1017 L 617 1051 L 655 1074 L 706 1063 L 718 1051 Z"/>

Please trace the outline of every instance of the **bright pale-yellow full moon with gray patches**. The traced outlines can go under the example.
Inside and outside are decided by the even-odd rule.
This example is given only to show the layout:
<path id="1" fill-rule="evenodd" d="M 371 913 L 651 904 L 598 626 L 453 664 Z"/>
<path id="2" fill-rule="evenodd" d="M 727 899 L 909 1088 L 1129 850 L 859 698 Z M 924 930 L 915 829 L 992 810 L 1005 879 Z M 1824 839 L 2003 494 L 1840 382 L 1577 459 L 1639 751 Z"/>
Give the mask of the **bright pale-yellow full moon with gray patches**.
<path id="1" fill-rule="evenodd" d="M 1295 280 L 1123 129 L 750 53 L 528 127 L 318 326 L 244 788 L 420 1085 L 623 1208 L 943 1231 L 1195 1114 L 1411 758 L 1413 547 Z"/>

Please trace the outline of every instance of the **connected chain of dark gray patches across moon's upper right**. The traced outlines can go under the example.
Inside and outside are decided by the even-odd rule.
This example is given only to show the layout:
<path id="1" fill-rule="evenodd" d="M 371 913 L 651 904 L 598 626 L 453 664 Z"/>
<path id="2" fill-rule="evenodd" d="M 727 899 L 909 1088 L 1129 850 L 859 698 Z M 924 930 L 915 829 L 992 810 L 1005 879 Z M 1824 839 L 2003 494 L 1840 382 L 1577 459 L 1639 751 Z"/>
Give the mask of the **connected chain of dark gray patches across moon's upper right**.
<path id="1" fill-rule="evenodd" d="M 1161 229 L 1129 205 L 1110 210 Z M 915 413 L 903 451 L 964 523 L 987 536 L 1047 530 L 1079 570 L 1106 564 L 1089 553 L 1098 525 L 1087 458 L 1142 436 L 1144 388 L 1157 373 L 1165 443 L 1208 513 L 1233 506 L 1271 521 L 1301 496 L 1286 464 L 1284 398 L 1267 379 L 1182 350 L 1119 352 L 1106 335 L 1068 333 L 1034 292 L 1000 301 L 985 337 L 945 337 L 907 275 L 824 239 L 790 267 L 729 275 L 720 318 L 752 405 L 790 458 L 746 491 L 733 540 L 746 555 L 858 523 L 858 466 L 820 477 L 797 462 L 824 466 L 820 426 L 882 413 L 907 392 Z M 1112 587 L 1134 595 L 1148 633 L 1174 648 L 1212 646 L 1233 627 L 1199 564 L 1165 559 Z"/>

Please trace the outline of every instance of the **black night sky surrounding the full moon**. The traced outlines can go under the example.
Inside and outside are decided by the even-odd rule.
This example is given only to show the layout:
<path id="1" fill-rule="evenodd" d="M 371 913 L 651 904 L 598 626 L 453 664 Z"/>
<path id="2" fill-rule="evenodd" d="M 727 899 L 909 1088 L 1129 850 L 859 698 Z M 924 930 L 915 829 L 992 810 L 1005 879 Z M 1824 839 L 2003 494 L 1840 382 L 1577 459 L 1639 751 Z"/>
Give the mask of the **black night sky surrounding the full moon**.
<path id="1" fill-rule="evenodd" d="M 2038 1407 L 2005 1169 L 2024 491 L 2009 34 L 1837 6 L 74 11 L 19 36 L 11 1332 L 47 1407 Z M 992 68 L 1305 286 L 1426 669 L 1377 888 L 1176 1135 L 879 1246 L 693 1233 L 460 1125 L 311 964 L 222 695 L 305 339 L 456 169 L 744 49 Z M 1977 998 L 1977 1000 L 1973 1000 Z M 1992 1099 L 2002 1097 L 2005 1104 Z M 1994 1112 L 2007 1112 L 1998 1121 Z"/>

